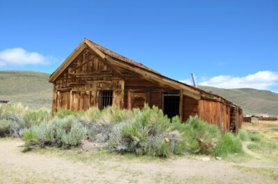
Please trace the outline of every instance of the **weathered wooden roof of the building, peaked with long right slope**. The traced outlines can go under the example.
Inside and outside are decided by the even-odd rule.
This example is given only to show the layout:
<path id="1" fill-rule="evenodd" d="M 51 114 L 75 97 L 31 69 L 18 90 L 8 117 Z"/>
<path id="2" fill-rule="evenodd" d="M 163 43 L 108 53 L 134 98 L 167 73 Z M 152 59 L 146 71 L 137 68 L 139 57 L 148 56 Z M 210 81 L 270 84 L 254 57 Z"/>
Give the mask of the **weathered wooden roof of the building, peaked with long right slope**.
<path id="1" fill-rule="evenodd" d="M 213 101 L 220 101 L 231 106 L 236 106 L 234 105 L 234 103 L 231 103 L 231 101 L 227 101 L 226 99 L 216 94 L 205 92 L 204 90 L 200 90 L 197 87 L 193 87 L 191 85 L 175 81 L 172 78 L 163 76 L 162 74 L 146 67 L 145 65 L 142 65 L 139 62 L 121 56 L 120 54 L 106 49 L 105 47 L 102 47 L 101 45 L 96 44 L 95 42 L 92 42 L 87 38 L 85 38 L 83 42 L 81 42 L 81 44 L 79 44 L 79 46 L 76 47 L 72 54 L 69 57 L 67 57 L 67 59 L 62 63 L 62 65 L 60 65 L 60 67 L 58 67 L 58 69 L 56 69 L 56 71 L 53 74 L 51 74 L 51 76 L 49 76 L 49 82 L 53 83 L 54 81 L 56 81 L 56 78 L 58 78 L 58 76 L 60 76 L 60 74 L 62 74 L 63 71 L 67 69 L 67 67 L 77 56 L 79 56 L 83 49 L 86 49 L 88 47 L 93 52 L 95 52 L 102 60 L 104 60 L 104 62 L 106 62 L 108 65 L 111 65 L 111 67 L 113 67 L 114 65 L 121 66 L 141 76 L 144 76 L 149 80 L 155 81 L 157 83 L 163 83 L 165 85 L 169 85 L 170 87 L 179 90 L 183 90 L 183 94 L 193 99 L 201 99 L 202 97 L 203 99 L 211 99 Z"/>

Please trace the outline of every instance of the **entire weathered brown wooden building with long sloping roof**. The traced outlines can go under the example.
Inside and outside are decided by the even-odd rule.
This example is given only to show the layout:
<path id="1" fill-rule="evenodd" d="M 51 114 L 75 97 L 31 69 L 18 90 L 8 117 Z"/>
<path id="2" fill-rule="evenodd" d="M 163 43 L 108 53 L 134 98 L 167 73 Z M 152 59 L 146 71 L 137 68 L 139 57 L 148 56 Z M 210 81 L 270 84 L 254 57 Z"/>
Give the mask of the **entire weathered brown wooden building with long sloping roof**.
<path id="1" fill-rule="evenodd" d="M 199 115 L 222 132 L 238 131 L 243 119 L 243 110 L 230 101 L 167 78 L 86 38 L 49 82 L 54 84 L 53 113 L 59 108 L 78 111 L 90 106 L 131 110 L 147 103 L 168 117 L 179 115 L 182 121 Z"/>

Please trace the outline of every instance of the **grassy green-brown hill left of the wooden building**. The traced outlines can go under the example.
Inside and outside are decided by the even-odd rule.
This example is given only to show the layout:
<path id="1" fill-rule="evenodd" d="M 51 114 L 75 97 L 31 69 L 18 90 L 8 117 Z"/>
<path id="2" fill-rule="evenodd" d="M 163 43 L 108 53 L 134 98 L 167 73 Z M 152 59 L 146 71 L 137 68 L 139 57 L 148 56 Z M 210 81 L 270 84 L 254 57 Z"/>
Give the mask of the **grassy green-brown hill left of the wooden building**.
<path id="1" fill-rule="evenodd" d="M 0 71 L 0 99 L 50 108 L 52 84 L 48 78 L 49 74 L 39 72 Z"/>

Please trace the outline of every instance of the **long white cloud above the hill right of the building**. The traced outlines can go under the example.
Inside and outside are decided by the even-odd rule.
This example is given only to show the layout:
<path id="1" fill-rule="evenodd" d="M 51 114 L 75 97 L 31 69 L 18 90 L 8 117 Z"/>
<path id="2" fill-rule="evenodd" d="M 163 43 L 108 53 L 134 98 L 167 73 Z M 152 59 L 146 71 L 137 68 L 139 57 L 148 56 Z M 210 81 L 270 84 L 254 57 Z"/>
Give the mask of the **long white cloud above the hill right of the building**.
<path id="1" fill-rule="evenodd" d="M 259 90 L 268 90 L 268 87 L 278 85 L 278 73 L 261 71 L 243 77 L 220 75 L 202 81 L 198 85 L 208 85 L 226 89 L 248 87 Z"/>

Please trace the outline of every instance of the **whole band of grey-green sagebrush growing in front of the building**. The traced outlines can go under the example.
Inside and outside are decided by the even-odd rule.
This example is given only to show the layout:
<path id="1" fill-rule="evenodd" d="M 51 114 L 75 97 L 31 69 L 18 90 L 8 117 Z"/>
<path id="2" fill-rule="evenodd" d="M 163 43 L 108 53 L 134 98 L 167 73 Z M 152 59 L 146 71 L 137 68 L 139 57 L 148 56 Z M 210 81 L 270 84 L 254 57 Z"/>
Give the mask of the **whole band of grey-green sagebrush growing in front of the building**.
<path id="1" fill-rule="evenodd" d="M 28 110 L 21 104 L 0 107 L 0 136 L 22 136 L 26 148 L 79 147 L 88 139 L 99 147 L 119 153 L 168 157 L 194 153 L 227 156 L 242 151 L 241 140 L 259 141 L 259 135 L 240 130 L 238 137 L 222 135 L 217 126 L 190 117 L 169 119 L 157 107 L 120 110 L 108 106 L 83 112 Z"/>

